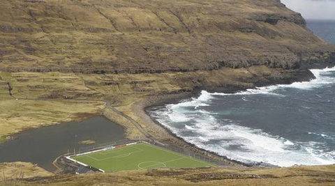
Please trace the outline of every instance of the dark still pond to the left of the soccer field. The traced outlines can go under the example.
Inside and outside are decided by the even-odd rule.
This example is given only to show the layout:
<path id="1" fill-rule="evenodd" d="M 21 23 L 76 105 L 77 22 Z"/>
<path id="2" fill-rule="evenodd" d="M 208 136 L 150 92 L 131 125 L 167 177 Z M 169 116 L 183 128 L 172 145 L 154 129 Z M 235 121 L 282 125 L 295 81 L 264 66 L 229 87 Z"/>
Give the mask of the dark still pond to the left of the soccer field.
<path id="1" fill-rule="evenodd" d="M 80 141 L 93 140 L 98 146 L 125 139 L 123 127 L 101 116 L 27 130 L 13 138 L 0 144 L 0 162 L 33 162 L 48 171 L 54 171 L 52 162 L 59 155 L 92 146 Z"/>

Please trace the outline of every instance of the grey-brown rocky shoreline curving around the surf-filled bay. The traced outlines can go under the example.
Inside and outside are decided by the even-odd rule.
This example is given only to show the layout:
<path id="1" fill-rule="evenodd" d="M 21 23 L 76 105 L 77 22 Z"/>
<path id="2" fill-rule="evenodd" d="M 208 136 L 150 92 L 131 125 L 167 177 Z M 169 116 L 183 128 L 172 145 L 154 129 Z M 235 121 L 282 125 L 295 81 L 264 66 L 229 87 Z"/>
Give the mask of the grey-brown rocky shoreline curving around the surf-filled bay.
<path id="1" fill-rule="evenodd" d="M 319 68 L 327 67 L 327 64 L 318 65 Z M 130 110 L 122 110 L 118 107 L 112 106 L 109 102 L 106 103 L 106 109 L 110 111 L 103 111 L 103 115 L 109 118 L 111 121 L 124 126 L 127 132 L 128 139 L 136 140 L 147 140 L 154 144 L 161 144 L 165 148 L 170 148 L 171 150 L 176 150 L 181 153 L 195 153 L 204 157 L 209 161 L 219 162 L 219 166 L 228 167 L 276 167 L 272 164 L 267 164 L 263 162 L 255 163 L 244 163 L 237 160 L 231 160 L 228 157 L 218 155 L 217 153 L 198 148 L 194 144 L 188 143 L 181 137 L 177 137 L 176 134 L 168 130 L 167 127 L 161 125 L 158 121 L 152 118 L 149 114 L 149 110 L 154 109 L 154 107 L 160 107 L 165 104 L 177 103 L 181 100 L 190 99 L 192 97 L 197 97 L 202 90 L 207 90 L 211 92 L 223 92 L 223 93 L 234 93 L 237 91 L 244 91 L 246 88 L 255 88 L 256 86 L 269 86 L 274 84 L 291 84 L 293 82 L 304 82 L 309 81 L 314 78 L 310 70 L 296 69 L 296 70 L 286 70 L 285 75 L 280 78 L 270 77 L 265 81 L 259 78 L 248 79 L 253 82 L 253 86 L 212 86 L 211 84 L 203 84 L 193 89 L 193 91 L 177 92 L 177 93 L 158 93 L 156 95 L 150 95 L 137 102 L 134 102 Z M 114 114 L 111 114 L 111 111 Z M 121 117 L 123 120 L 120 120 Z M 145 125 L 144 125 L 145 123 Z M 135 126 L 135 127 L 134 127 Z M 131 132 L 140 132 L 140 137 L 133 137 Z"/>

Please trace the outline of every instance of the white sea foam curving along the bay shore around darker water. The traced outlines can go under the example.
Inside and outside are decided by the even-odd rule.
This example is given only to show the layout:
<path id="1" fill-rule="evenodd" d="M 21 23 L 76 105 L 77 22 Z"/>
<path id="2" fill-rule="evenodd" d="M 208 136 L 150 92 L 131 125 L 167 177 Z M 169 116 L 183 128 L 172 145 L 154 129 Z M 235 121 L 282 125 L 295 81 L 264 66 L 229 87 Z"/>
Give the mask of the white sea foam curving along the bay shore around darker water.
<path id="1" fill-rule="evenodd" d="M 278 88 L 311 89 L 332 84 L 335 83 L 335 78 L 325 76 L 331 71 L 335 71 L 335 67 L 311 70 L 315 79 L 309 82 L 251 88 L 238 93 L 202 91 L 198 98 L 178 104 L 168 104 L 164 109 L 156 111 L 157 119 L 186 141 L 233 160 L 265 162 L 278 166 L 335 164 L 335 152 L 324 152 L 323 149 L 318 148 L 322 144 L 313 141 L 308 143 L 289 141 L 283 137 L 267 134 L 262 130 L 241 126 L 228 119 L 222 119 L 219 123 L 213 113 L 202 109 L 211 104 L 211 100 L 215 98 L 214 95 L 268 94 L 277 96 Z M 310 132 L 309 134 L 315 133 Z M 329 138 L 327 134 L 318 135 Z"/>

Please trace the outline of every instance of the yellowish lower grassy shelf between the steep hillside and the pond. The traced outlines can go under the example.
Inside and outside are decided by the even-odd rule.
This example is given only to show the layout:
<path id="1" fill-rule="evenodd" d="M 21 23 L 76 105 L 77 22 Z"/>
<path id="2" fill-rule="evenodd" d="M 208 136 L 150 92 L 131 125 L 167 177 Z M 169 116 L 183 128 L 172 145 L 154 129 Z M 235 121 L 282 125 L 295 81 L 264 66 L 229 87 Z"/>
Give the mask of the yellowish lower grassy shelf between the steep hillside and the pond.
<path id="1" fill-rule="evenodd" d="M 0 137 L 3 139 L 30 127 L 73 121 L 92 114 L 105 114 L 125 125 L 128 136 L 133 139 L 142 137 L 133 124 L 105 108 L 107 100 L 113 107 L 141 122 L 156 137 L 163 138 L 167 134 L 160 127 L 140 121 L 133 111 L 136 102 L 155 95 L 188 93 L 197 87 L 248 88 L 255 82 L 269 82 L 271 79 L 285 81 L 290 77 L 290 72 L 266 67 L 144 75 L 0 72 Z M 8 94 L 6 82 L 10 82 L 13 96 Z"/>

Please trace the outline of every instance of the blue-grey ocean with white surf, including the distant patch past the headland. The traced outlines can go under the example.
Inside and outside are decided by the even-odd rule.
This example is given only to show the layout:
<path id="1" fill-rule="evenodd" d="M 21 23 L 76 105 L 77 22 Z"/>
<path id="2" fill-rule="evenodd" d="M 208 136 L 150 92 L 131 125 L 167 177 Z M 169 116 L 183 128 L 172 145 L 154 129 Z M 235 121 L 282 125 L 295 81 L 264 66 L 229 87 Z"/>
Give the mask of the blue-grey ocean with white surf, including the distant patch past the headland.
<path id="1" fill-rule="evenodd" d="M 308 21 L 335 44 L 335 22 Z M 166 104 L 151 117 L 199 148 L 249 164 L 335 164 L 335 68 L 316 79 L 237 93 L 202 91 Z"/>

